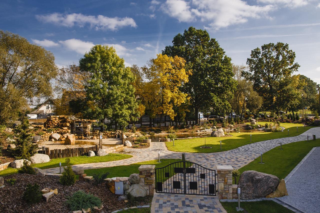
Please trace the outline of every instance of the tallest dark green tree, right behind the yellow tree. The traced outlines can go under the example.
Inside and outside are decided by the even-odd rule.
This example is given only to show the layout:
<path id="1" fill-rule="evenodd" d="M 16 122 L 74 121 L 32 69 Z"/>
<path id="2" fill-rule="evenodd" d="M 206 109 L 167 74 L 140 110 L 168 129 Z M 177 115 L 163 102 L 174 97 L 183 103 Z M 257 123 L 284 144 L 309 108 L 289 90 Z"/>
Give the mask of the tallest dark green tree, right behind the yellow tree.
<path id="1" fill-rule="evenodd" d="M 199 108 L 213 108 L 221 114 L 229 112 L 228 99 L 236 87 L 232 78 L 231 59 L 225 55 L 219 43 L 207 31 L 189 27 L 183 35 L 178 34 L 166 46 L 163 54 L 179 56 L 186 60 L 186 70 L 192 70 L 183 91 L 190 96 L 190 102 L 198 117 Z M 196 123 L 198 120 L 196 119 Z"/>

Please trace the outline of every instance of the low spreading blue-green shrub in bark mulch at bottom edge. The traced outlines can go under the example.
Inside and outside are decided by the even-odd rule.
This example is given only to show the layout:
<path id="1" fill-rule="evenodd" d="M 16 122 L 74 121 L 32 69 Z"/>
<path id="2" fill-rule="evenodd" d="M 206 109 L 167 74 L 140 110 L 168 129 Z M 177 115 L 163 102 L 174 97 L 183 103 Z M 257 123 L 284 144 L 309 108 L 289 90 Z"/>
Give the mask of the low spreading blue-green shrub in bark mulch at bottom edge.
<path id="1" fill-rule="evenodd" d="M 79 209 L 93 209 L 95 206 L 101 207 L 102 202 L 100 198 L 79 190 L 67 197 L 66 205 L 71 211 L 77 211 Z"/>

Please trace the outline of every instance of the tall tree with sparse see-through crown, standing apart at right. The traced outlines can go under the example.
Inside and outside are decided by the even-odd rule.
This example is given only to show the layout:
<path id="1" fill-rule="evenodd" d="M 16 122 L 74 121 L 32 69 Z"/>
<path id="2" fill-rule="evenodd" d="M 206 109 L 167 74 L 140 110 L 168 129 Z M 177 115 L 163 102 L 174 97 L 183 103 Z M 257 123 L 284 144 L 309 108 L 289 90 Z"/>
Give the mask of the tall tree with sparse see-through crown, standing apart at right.
<path id="1" fill-rule="evenodd" d="M 251 51 L 247 59 L 249 71 L 244 71 L 244 77 L 253 82 L 253 89 L 263 97 L 263 107 L 279 112 L 286 107 L 288 102 L 276 100 L 281 93 L 282 86 L 288 85 L 292 73 L 298 71 L 300 65 L 294 62 L 295 52 L 289 50 L 289 45 L 278 42 L 264 44 Z M 289 90 L 282 90 L 289 91 Z M 284 99 L 282 99 L 284 100 Z M 280 104 L 280 105 L 279 105 Z"/>

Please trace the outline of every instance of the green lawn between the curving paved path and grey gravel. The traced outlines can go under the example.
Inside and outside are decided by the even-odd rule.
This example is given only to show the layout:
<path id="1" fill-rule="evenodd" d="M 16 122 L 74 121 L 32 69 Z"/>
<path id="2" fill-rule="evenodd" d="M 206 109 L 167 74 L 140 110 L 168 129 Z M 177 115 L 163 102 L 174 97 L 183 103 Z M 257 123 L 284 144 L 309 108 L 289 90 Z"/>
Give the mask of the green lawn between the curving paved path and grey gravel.
<path id="1" fill-rule="evenodd" d="M 255 170 L 283 179 L 316 146 L 320 146 L 320 139 L 285 144 L 282 146 L 283 150 L 280 150 L 278 146 L 262 155 L 264 164 L 259 163 L 261 159 L 258 157 L 240 168 L 239 171 L 242 173 L 247 170 Z"/>

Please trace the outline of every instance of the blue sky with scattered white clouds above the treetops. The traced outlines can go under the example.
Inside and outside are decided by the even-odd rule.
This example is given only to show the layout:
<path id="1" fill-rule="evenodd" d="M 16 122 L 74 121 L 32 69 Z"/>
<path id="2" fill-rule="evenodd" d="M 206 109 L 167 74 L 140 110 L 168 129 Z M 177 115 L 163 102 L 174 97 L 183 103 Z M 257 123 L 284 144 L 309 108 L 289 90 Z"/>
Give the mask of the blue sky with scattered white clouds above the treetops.
<path id="1" fill-rule="evenodd" d="M 0 20 L 1 30 L 52 51 L 58 67 L 78 64 L 95 44 L 143 66 L 194 26 L 234 64 L 265 43 L 288 43 L 301 66 L 296 74 L 320 83 L 320 0 L 1 0 Z"/>

